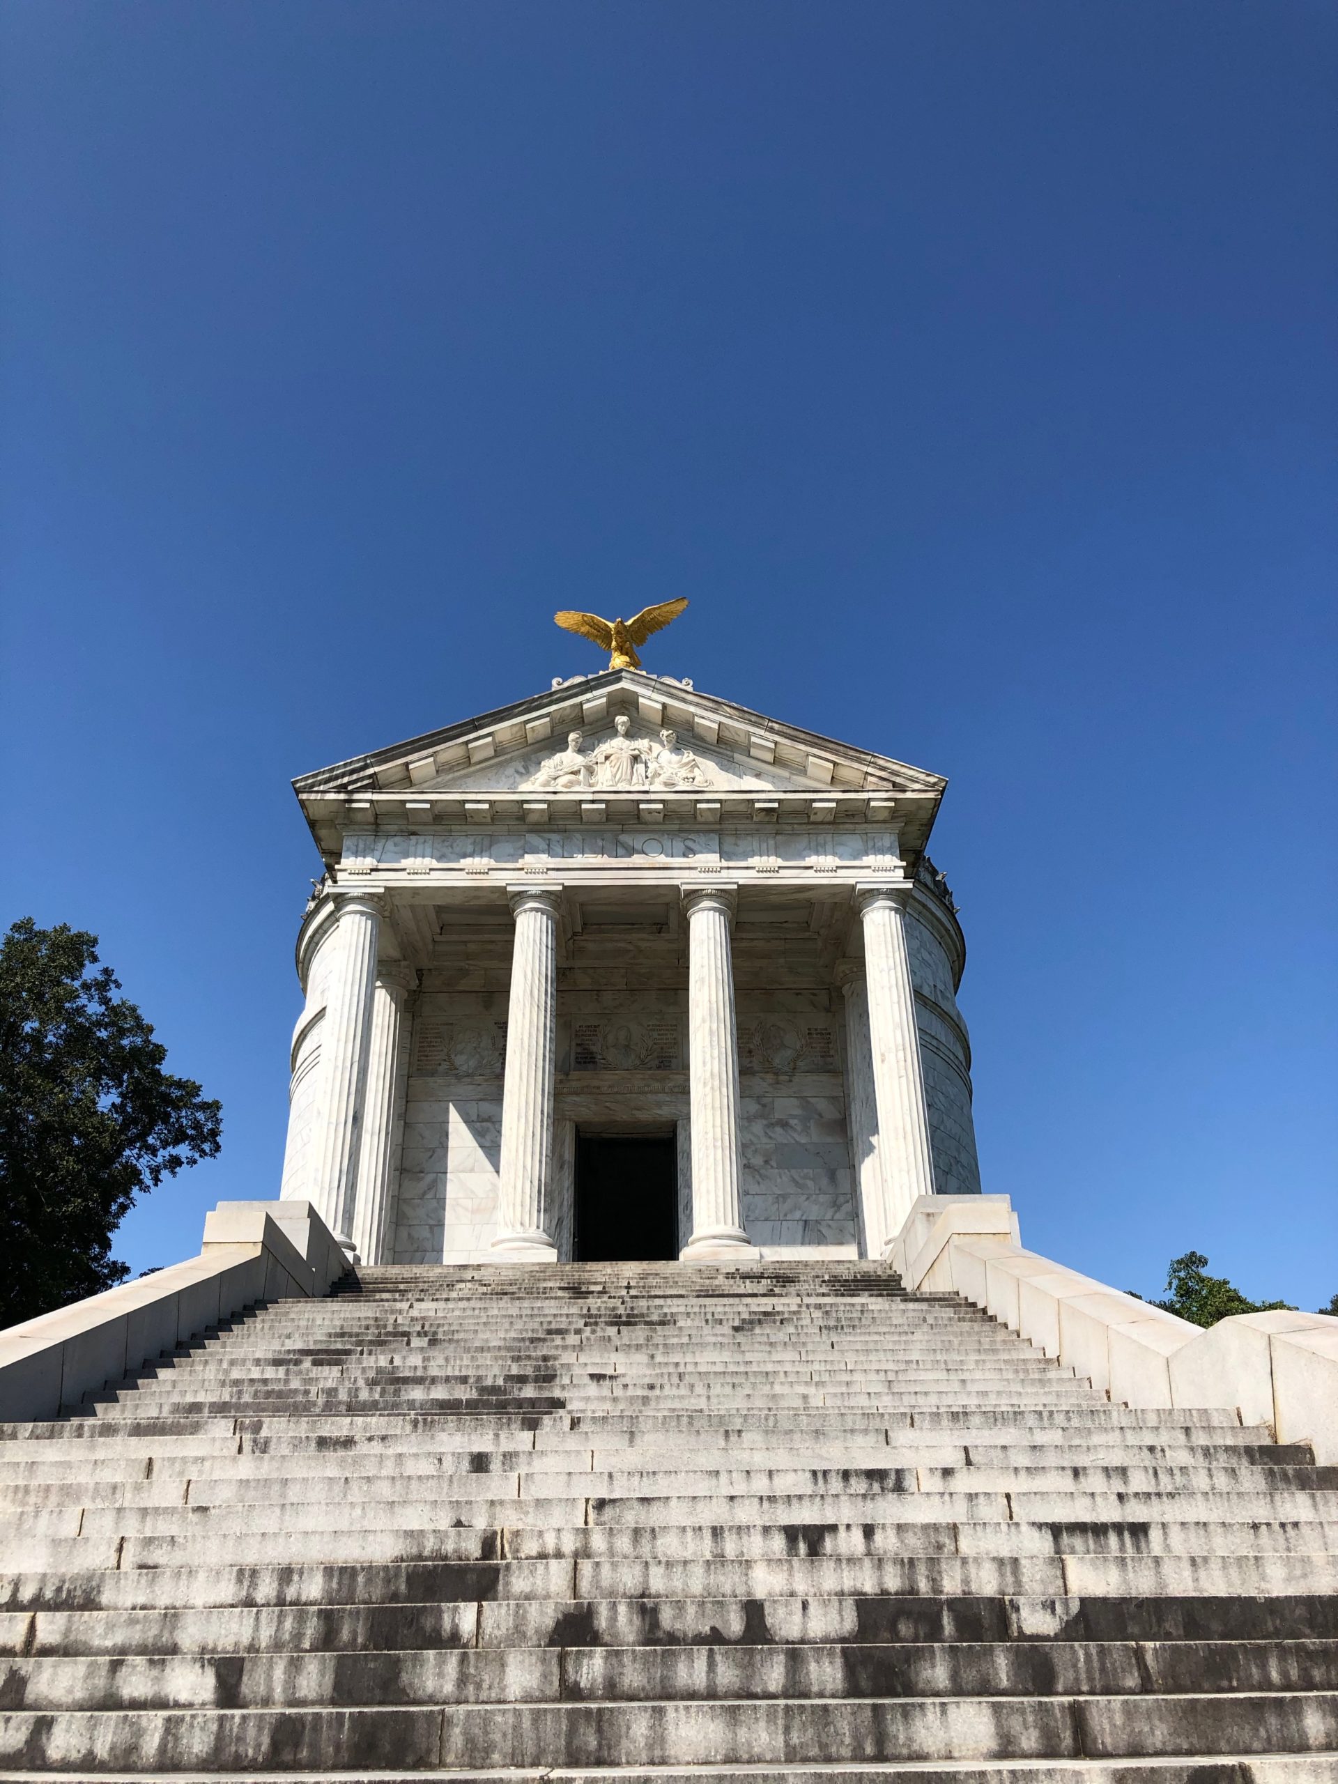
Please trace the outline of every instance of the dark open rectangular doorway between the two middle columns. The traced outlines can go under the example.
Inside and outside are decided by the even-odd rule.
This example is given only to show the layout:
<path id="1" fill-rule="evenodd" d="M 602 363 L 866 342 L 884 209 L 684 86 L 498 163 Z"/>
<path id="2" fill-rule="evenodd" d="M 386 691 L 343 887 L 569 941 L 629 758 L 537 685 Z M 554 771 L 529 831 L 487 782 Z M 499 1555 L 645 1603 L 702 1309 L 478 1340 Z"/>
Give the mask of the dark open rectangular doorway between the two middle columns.
<path id="1" fill-rule="evenodd" d="M 673 1133 L 576 1133 L 578 1263 L 678 1256 L 678 1158 Z"/>

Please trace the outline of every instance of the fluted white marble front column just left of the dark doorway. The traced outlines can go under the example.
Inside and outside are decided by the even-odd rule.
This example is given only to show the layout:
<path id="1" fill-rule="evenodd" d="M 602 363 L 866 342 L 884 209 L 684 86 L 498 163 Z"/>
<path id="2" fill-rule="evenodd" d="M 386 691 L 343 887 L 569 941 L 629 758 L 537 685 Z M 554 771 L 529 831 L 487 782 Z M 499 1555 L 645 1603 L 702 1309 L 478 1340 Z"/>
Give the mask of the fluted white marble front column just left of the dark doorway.
<path id="1" fill-rule="evenodd" d="M 553 1220 L 553 1081 L 557 1070 L 558 887 L 510 887 L 516 942 L 501 1085 L 501 1208 L 492 1251 L 517 1263 L 557 1263 Z"/>

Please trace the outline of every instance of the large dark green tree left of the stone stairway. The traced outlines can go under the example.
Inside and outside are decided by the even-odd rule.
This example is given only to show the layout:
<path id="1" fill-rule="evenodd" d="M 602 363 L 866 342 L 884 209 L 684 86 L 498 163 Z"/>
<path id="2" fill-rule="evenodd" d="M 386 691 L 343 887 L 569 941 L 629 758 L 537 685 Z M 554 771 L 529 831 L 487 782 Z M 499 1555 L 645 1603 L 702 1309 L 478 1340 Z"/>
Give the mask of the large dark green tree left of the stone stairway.
<path id="1" fill-rule="evenodd" d="M 96 947 L 32 917 L 0 942 L 0 1326 L 123 1281 L 136 1197 L 219 1147 L 219 1104 L 162 1070 Z"/>

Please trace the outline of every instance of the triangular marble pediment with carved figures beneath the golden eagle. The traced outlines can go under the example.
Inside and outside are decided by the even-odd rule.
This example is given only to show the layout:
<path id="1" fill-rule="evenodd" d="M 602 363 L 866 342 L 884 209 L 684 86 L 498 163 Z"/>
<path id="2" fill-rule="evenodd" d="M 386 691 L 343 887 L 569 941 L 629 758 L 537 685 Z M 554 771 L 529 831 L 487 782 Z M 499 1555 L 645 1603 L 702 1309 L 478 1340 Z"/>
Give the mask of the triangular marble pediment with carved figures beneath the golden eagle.
<path id="1" fill-rule="evenodd" d="M 665 739 L 665 731 L 674 735 Z M 574 747 L 571 733 L 580 733 Z M 530 787 L 938 796 L 946 781 L 639 669 L 574 676 L 478 719 L 294 781 L 300 797 L 414 790 L 485 796 Z"/>

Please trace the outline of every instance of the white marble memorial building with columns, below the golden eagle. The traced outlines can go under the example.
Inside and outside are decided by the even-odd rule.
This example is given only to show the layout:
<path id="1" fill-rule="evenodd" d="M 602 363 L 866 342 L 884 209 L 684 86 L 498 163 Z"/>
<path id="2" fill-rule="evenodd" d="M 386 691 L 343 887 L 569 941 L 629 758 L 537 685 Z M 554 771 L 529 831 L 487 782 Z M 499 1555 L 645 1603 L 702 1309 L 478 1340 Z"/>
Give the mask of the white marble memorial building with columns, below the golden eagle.
<path id="1" fill-rule="evenodd" d="M 633 669 L 303 774 L 284 1199 L 360 1263 L 637 1261 L 649 1195 L 655 1258 L 887 1258 L 979 1192 L 944 785 Z M 664 1169 L 596 1204 L 601 1142 Z"/>

